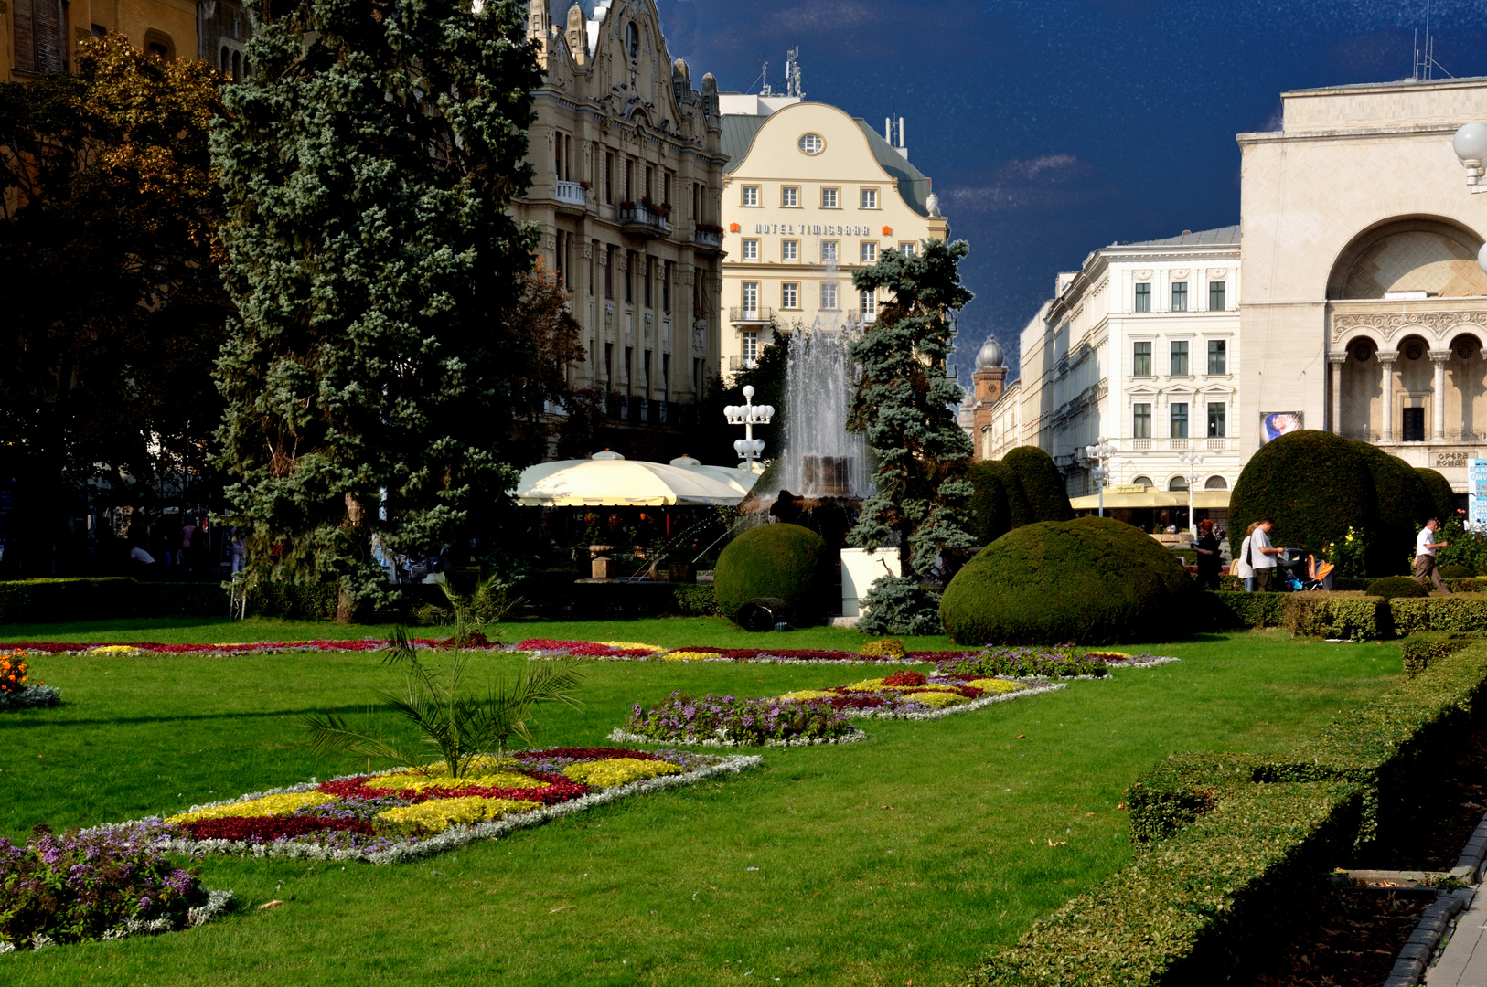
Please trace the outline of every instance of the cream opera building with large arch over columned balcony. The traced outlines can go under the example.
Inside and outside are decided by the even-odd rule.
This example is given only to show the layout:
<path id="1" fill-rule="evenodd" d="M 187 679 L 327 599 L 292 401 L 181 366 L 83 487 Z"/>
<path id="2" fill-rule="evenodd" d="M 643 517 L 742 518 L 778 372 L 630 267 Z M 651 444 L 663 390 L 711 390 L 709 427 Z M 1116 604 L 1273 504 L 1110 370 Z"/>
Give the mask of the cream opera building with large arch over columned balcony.
<path id="1" fill-rule="evenodd" d="M 1487 79 L 1282 101 L 1280 131 L 1239 135 L 1242 452 L 1291 416 L 1463 492 L 1468 461 L 1487 455 L 1487 195 L 1468 192 L 1451 137 L 1487 120 Z"/>

